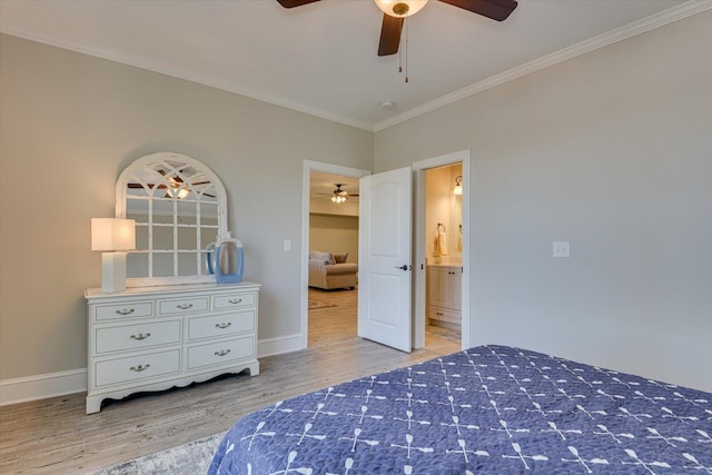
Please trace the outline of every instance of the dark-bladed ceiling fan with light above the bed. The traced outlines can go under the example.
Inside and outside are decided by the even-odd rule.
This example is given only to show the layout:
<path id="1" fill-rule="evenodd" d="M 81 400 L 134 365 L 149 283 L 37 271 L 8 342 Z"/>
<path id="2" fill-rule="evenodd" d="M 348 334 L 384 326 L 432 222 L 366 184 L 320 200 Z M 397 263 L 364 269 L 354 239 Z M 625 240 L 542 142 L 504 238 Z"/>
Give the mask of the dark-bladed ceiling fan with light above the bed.
<path id="1" fill-rule="evenodd" d="M 301 7 L 319 0 L 277 0 L 284 8 Z M 496 21 L 505 20 L 517 6 L 516 0 L 439 0 Z M 400 31 L 406 17 L 417 13 L 427 0 L 375 0 L 383 13 L 378 56 L 398 52 Z"/>

